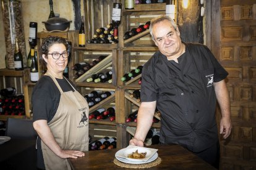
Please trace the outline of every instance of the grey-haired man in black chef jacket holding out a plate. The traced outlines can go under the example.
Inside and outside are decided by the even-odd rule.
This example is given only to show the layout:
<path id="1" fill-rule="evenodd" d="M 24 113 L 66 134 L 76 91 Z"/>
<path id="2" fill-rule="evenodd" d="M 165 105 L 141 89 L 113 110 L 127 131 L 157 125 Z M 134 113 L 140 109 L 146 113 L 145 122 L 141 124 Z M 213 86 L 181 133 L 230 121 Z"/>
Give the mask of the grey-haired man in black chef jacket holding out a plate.
<path id="1" fill-rule="evenodd" d="M 202 44 L 181 41 L 168 16 L 151 21 L 150 34 L 159 51 L 143 66 L 137 130 L 130 145 L 142 147 L 157 107 L 161 144 L 178 144 L 218 168 L 216 100 L 221 108 L 220 134 L 231 133 L 228 73 Z"/>

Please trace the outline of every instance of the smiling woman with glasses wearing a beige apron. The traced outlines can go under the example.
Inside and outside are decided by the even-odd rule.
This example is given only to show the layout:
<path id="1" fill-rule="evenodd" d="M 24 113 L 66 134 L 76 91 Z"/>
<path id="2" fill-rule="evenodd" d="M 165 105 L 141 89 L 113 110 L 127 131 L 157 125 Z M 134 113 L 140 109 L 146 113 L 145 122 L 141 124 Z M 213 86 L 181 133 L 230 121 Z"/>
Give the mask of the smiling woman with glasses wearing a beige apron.
<path id="1" fill-rule="evenodd" d="M 67 158 L 88 151 L 88 103 L 62 73 L 67 65 L 67 41 L 48 37 L 40 60 L 47 71 L 33 88 L 33 127 L 38 133 L 37 166 L 70 169 Z"/>

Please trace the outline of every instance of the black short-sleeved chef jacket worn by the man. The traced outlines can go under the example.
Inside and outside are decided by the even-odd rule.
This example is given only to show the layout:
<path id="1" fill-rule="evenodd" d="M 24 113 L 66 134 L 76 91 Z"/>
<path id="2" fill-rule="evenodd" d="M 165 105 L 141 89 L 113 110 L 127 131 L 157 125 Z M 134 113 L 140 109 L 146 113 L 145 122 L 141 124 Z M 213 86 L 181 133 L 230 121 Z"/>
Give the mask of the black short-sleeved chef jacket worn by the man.
<path id="1" fill-rule="evenodd" d="M 186 52 L 178 63 L 160 51 L 145 63 L 141 101 L 156 101 L 161 113 L 161 143 L 201 152 L 218 141 L 213 83 L 228 73 L 207 46 L 185 45 Z"/>

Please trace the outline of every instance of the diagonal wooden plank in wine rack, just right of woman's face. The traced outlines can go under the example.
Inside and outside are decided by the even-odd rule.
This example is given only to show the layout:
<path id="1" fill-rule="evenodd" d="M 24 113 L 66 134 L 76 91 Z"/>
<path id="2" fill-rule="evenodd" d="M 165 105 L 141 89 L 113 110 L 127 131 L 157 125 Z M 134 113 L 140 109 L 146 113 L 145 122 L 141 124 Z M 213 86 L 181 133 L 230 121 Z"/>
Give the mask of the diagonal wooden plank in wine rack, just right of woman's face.
<path id="1" fill-rule="evenodd" d="M 90 78 L 95 73 L 98 73 L 101 70 L 104 70 L 112 65 L 112 54 L 109 54 L 108 57 L 101 60 L 101 62 L 97 63 L 95 67 L 92 67 L 90 70 L 86 71 L 82 76 L 75 79 L 76 83 L 81 83 L 85 81 L 87 78 Z"/>

